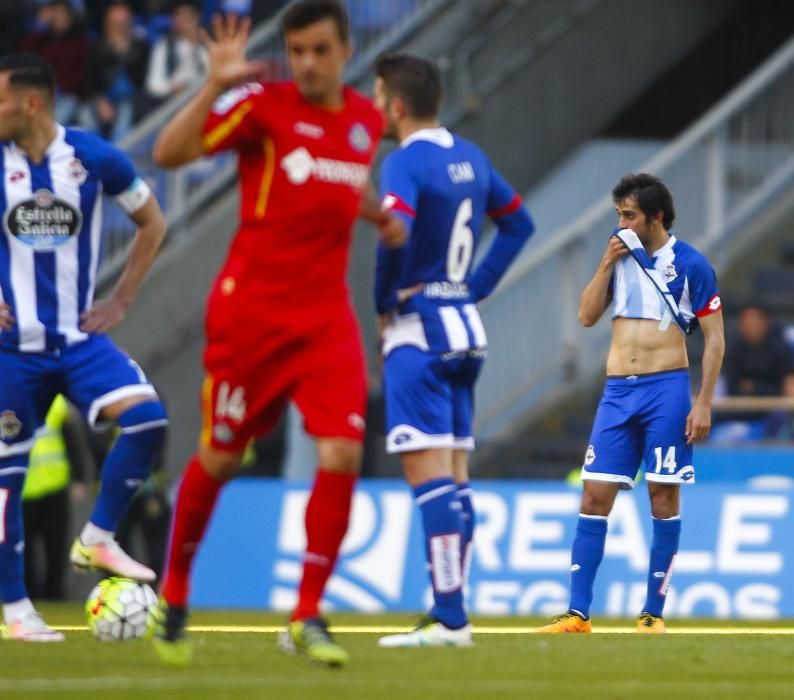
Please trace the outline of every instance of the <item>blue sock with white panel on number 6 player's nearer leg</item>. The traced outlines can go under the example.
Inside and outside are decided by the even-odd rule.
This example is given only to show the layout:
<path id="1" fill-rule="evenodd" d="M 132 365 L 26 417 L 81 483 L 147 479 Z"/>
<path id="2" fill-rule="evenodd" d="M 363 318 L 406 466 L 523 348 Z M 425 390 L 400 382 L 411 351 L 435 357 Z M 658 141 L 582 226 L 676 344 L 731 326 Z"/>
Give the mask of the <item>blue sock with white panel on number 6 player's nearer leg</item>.
<path id="1" fill-rule="evenodd" d="M 458 629 L 467 622 L 463 608 L 461 543 L 463 519 L 458 488 L 452 479 L 433 479 L 414 487 L 422 512 L 425 546 L 435 605 L 430 611 L 441 624 Z"/>

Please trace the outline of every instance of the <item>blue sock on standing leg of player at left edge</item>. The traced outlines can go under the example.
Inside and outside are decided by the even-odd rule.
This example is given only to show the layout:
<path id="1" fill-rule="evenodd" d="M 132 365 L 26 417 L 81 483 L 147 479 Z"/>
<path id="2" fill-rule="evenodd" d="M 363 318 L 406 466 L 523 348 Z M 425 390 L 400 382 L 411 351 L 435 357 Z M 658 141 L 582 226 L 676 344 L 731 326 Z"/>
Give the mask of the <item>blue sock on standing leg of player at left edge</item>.
<path id="1" fill-rule="evenodd" d="M 27 597 L 22 525 L 22 486 L 27 464 L 27 455 L 0 459 L 0 599 L 6 604 Z"/>

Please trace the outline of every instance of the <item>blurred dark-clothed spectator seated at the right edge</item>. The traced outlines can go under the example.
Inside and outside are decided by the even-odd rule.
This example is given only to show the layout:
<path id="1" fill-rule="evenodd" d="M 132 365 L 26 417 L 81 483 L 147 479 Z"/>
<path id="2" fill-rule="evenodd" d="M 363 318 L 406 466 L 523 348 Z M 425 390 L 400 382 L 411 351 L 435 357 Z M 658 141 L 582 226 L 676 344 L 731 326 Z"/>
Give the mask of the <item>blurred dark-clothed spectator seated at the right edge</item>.
<path id="1" fill-rule="evenodd" d="M 794 353 L 763 306 L 750 303 L 740 311 L 737 332 L 728 340 L 723 374 L 730 396 L 794 396 Z M 758 414 L 732 418 L 759 420 Z M 763 420 L 764 436 L 778 436 L 786 420 L 785 413 L 770 414 Z"/>

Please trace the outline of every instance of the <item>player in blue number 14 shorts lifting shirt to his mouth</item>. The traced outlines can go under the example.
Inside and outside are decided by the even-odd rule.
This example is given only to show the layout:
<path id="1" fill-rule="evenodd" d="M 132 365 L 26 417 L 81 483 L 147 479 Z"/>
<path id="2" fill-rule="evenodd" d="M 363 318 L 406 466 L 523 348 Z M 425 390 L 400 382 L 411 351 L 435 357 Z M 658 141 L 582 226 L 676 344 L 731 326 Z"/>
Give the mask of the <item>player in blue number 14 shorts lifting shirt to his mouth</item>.
<path id="1" fill-rule="evenodd" d="M 579 524 L 571 552 L 569 609 L 538 632 L 590 632 L 593 581 L 607 516 L 619 489 L 634 487 L 645 460 L 653 515 L 641 633 L 664 632 L 662 613 L 681 534 L 680 485 L 692 483 L 692 443 L 708 435 L 725 348 L 717 279 L 706 258 L 668 233 L 673 198 L 652 175 L 627 175 L 612 190 L 620 229 L 582 293 L 592 326 L 614 302 L 607 383 L 585 454 Z M 690 399 L 686 336 L 700 326 L 700 393 Z"/>

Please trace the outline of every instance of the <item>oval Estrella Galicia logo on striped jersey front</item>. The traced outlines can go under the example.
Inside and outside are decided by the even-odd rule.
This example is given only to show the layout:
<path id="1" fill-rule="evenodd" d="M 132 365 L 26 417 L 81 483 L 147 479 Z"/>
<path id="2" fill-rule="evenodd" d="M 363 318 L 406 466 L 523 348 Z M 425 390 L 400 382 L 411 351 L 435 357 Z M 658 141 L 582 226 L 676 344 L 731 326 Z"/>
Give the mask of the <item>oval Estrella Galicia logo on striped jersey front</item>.
<path id="1" fill-rule="evenodd" d="M 52 250 L 66 243 L 83 225 L 83 215 L 46 189 L 37 190 L 8 209 L 6 231 L 36 250 Z"/>

